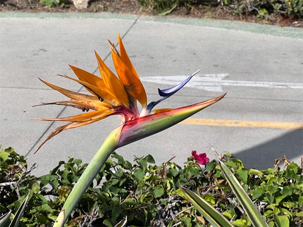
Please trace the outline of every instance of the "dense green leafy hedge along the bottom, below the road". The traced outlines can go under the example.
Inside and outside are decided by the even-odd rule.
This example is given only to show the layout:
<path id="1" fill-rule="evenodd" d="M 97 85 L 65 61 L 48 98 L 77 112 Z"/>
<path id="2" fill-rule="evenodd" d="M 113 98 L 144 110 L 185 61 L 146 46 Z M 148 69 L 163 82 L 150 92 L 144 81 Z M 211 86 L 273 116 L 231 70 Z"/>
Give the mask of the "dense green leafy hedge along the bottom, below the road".
<path id="1" fill-rule="evenodd" d="M 0 215 L 10 209 L 14 214 L 30 193 L 20 226 L 52 225 L 87 166 L 81 159 L 69 157 L 49 174 L 36 177 L 30 172 L 38 168 L 37 164 L 28 166 L 26 159 L 13 148 L 1 151 L 0 159 Z M 180 182 L 210 202 L 235 226 L 251 226 L 215 160 L 199 165 L 193 157 L 188 157 L 184 166 L 172 160 L 156 165 L 151 155 L 135 157 L 130 162 L 117 153 L 112 154 L 67 225 L 115 226 L 127 216 L 127 226 L 208 226 L 185 199 Z M 246 169 L 241 160 L 229 153 L 222 160 L 270 226 L 303 226 L 301 165 L 289 163 L 284 157 L 275 160 L 275 168 L 259 171 Z M 278 167 L 280 161 L 285 163 L 283 169 Z"/>

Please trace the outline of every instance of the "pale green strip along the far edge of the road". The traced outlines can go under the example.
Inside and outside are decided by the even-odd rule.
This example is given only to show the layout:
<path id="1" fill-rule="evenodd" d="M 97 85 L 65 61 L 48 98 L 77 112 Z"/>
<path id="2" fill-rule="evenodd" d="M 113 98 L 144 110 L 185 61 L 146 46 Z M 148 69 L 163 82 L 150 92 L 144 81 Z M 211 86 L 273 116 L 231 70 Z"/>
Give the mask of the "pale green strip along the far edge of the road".
<path id="1" fill-rule="evenodd" d="M 0 12 L 0 19 L 5 18 L 78 18 L 78 19 L 112 19 L 112 20 L 137 20 L 138 22 L 155 22 L 181 24 L 188 26 L 199 26 L 213 29 L 233 30 L 239 32 L 249 32 L 255 34 L 272 35 L 278 37 L 287 37 L 294 39 L 303 39 L 303 29 L 293 27 L 278 27 L 275 25 L 262 25 L 249 22 L 238 22 L 228 20 L 214 19 L 181 19 L 172 17 L 159 16 L 133 16 L 128 14 L 118 13 L 25 13 L 25 12 Z"/>

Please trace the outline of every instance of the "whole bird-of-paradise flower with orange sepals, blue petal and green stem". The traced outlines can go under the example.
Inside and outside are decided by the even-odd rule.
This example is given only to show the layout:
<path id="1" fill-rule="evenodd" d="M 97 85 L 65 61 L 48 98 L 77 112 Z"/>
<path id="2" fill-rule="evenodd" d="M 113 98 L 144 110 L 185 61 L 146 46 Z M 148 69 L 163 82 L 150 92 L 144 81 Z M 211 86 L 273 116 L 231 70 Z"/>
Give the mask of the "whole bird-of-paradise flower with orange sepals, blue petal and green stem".
<path id="1" fill-rule="evenodd" d="M 68 101 L 43 103 L 41 105 L 66 105 L 87 112 L 65 118 L 35 119 L 42 121 L 67 122 L 55 129 L 37 150 L 39 150 L 46 141 L 64 130 L 88 125 L 113 115 L 122 116 L 120 125 L 105 140 L 65 202 L 63 207 L 63 210 L 65 210 L 64 222 L 115 149 L 161 132 L 190 117 L 201 109 L 221 100 L 225 95 L 177 109 L 165 108 L 153 110 L 158 103 L 181 89 L 200 70 L 172 88 L 165 90 L 158 89 L 159 95 L 162 96 L 162 98 L 147 104 L 145 89 L 130 62 L 120 35 L 118 35 L 118 41 L 120 52 L 116 49 L 115 45 L 110 42 L 112 46 L 113 62 L 118 77 L 105 65 L 96 52 L 95 55 L 101 78 L 74 66 L 70 67 L 78 79 L 59 75 L 82 84 L 91 93 L 90 95 L 66 90 L 40 79 L 47 86 L 72 99 Z M 142 105 L 141 113 L 139 113 L 137 101 Z"/>

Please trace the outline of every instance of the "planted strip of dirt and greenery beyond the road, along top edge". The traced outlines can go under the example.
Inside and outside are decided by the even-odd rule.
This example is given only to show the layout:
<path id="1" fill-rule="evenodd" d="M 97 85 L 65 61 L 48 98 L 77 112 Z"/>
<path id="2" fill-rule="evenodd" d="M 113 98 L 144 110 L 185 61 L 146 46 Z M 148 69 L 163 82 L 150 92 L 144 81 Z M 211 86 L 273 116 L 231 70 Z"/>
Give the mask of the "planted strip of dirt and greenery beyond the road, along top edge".
<path id="1" fill-rule="evenodd" d="M 71 0 L 0 0 L 1 11 L 79 12 Z M 303 0 L 93 0 L 80 12 L 212 18 L 303 27 Z"/>

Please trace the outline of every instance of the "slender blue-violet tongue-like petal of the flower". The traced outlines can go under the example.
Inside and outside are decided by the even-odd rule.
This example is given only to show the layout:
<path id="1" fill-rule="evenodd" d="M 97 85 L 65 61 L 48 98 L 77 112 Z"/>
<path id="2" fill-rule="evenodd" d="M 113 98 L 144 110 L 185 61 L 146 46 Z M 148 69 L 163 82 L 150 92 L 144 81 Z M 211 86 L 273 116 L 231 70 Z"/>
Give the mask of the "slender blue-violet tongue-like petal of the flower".
<path id="1" fill-rule="evenodd" d="M 202 68 L 203 69 L 203 68 Z M 172 87 L 172 88 L 168 88 L 168 89 L 163 89 L 160 90 L 158 88 L 158 93 L 160 96 L 162 96 L 163 98 L 159 99 L 158 101 L 153 101 L 150 102 L 147 105 L 147 114 L 150 113 L 151 109 L 153 109 L 155 107 L 155 105 L 159 104 L 160 102 L 162 102 L 163 100 L 169 98 L 170 96 L 172 96 L 173 94 L 175 94 L 177 91 L 179 91 L 194 75 L 196 75 L 198 72 L 200 72 L 201 69 L 199 69 L 198 71 L 194 72 L 191 76 L 189 76 L 188 78 L 186 78 L 184 81 L 182 81 L 180 84 Z"/>

